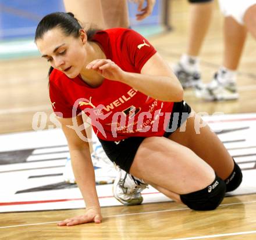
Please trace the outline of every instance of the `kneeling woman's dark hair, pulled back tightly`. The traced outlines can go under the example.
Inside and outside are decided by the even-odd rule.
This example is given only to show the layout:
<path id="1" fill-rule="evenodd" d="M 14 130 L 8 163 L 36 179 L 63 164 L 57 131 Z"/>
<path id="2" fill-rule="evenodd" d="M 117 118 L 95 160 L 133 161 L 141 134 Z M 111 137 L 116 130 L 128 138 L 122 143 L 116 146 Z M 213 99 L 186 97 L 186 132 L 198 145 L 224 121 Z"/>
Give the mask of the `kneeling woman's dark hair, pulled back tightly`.
<path id="1" fill-rule="evenodd" d="M 45 32 L 52 30 L 55 27 L 61 28 L 66 36 L 73 35 L 74 38 L 79 38 L 80 30 L 83 29 L 80 22 L 74 17 L 73 13 L 55 12 L 47 14 L 38 23 L 37 29 L 35 30 L 35 41 L 44 36 Z M 97 29 L 89 29 L 86 31 L 88 41 L 91 41 L 94 37 Z M 48 77 L 51 74 L 53 67 L 50 67 L 48 71 Z"/>

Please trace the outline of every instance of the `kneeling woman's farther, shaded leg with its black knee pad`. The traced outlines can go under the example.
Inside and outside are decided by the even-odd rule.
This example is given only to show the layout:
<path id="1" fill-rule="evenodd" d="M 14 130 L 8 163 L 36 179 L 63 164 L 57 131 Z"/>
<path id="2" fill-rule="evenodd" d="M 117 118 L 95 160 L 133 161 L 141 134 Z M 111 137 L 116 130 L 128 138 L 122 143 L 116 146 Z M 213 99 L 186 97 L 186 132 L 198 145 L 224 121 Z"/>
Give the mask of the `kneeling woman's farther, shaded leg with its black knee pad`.
<path id="1" fill-rule="evenodd" d="M 228 182 L 227 191 L 232 191 L 240 185 L 242 174 L 239 166 L 234 163 L 218 136 L 195 112 L 191 112 L 187 121 L 173 132 L 169 139 L 190 148 L 204 159 L 219 177 Z"/>

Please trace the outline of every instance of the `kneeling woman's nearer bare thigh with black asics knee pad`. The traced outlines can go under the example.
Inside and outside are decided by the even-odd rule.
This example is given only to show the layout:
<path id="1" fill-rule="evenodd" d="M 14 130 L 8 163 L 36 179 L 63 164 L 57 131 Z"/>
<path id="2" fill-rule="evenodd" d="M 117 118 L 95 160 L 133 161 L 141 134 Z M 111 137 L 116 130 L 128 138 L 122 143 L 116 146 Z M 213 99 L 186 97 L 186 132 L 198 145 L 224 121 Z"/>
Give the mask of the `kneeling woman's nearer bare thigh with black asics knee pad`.
<path id="1" fill-rule="evenodd" d="M 226 191 L 224 181 L 207 162 L 165 137 L 143 140 L 130 173 L 194 210 L 215 209 Z"/>

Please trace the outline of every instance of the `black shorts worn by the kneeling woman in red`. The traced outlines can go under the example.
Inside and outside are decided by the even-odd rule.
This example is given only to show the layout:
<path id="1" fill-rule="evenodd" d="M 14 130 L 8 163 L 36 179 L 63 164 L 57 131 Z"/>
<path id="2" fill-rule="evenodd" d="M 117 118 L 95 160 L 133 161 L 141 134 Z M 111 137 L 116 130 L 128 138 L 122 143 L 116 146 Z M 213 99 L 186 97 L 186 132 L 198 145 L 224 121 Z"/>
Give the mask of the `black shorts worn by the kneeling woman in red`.
<path id="1" fill-rule="evenodd" d="M 174 103 L 172 114 L 170 115 L 169 126 L 163 137 L 168 137 L 175 132 L 183 122 L 189 117 L 191 107 L 185 102 Z M 106 141 L 99 139 L 102 144 L 102 148 L 106 152 L 106 155 L 112 162 L 118 165 L 121 169 L 129 173 L 131 164 L 136 155 L 138 147 L 142 143 L 145 137 L 128 137 L 127 139 L 115 141 Z"/>

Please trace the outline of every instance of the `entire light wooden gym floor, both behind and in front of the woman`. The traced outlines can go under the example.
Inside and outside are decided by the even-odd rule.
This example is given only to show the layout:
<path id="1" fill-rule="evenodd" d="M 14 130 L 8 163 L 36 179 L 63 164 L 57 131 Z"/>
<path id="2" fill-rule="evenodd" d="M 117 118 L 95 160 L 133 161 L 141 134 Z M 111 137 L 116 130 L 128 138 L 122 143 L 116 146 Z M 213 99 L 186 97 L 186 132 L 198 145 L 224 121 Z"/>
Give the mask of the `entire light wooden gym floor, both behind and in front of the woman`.
<path id="1" fill-rule="evenodd" d="M 169 63 L 175 63 L 185 50 L 189 8 L 185 0 L 173 0 L 171 7 L 174 30 L 150 41 Z M 204 82 L 222 63 L 222 49 L 222 15 L 216 4 L 201 52 Z M 239 67 L 239 100 L 206 103 L 196 99 L 192 90 L 186 90 L 184 99 L 195 111 L 207 114 L 255 112 L 255 56 L 256 41 L 248 36 Z M 0 133 L 32 130 L 35 112 L 51 114 L 47 71 L 40 57 L 0 62 Z M 52 125 L 49 118 L 45 121 L 45 128 Z M 83 209 L 1 213 L 0 239 L 256 239 L 256 195 L 225 198 L 211 212 L 195 212 L 172 202 L 102 208 L 102 224 L 56 226 L 56 221 L 74 214 L 83 214 Z"/>

